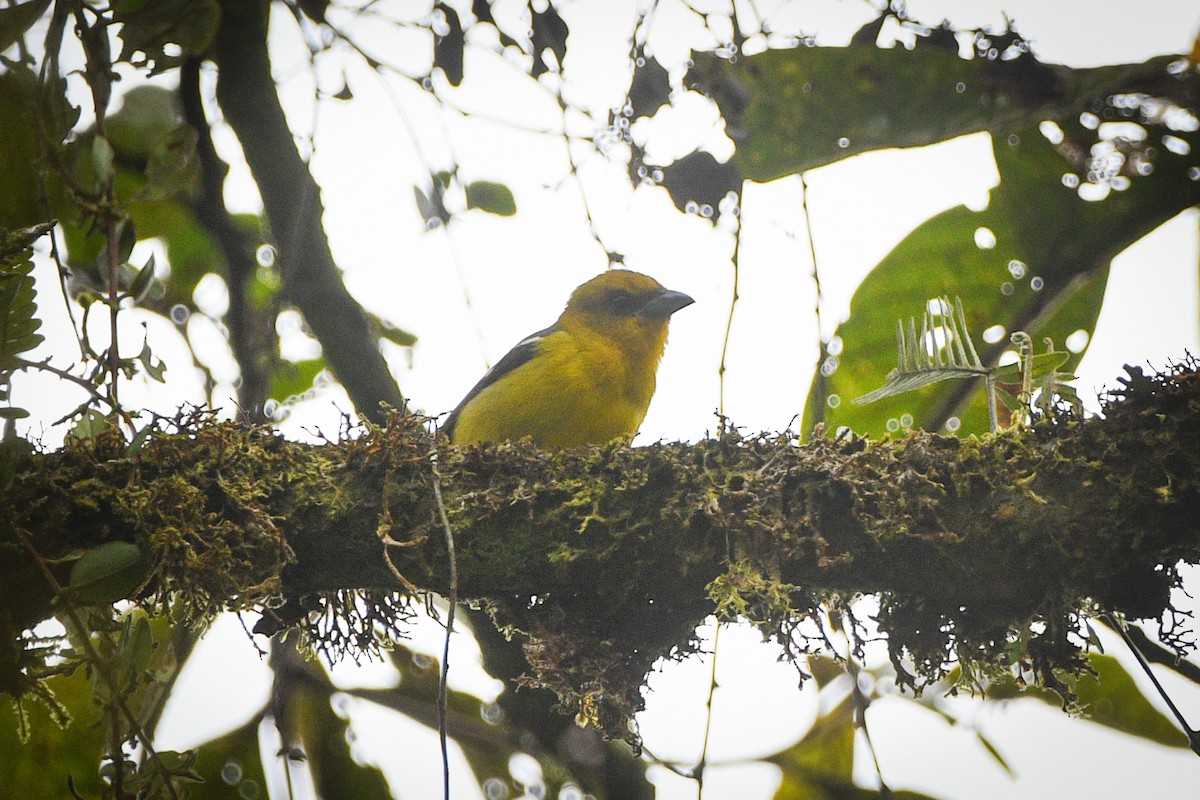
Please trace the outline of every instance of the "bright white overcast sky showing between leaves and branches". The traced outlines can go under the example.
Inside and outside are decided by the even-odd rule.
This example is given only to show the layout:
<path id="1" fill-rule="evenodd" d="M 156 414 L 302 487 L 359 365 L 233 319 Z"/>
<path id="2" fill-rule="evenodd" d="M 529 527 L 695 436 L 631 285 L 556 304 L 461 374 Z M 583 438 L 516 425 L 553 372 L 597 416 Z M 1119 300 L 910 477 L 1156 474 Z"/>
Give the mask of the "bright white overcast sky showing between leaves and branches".
<path id="1" fill-rule="evenodd" d="M 851 0 L 757 5 L 761 10 L 775 8 L 768 16 L 776 29 L 800 24 L 805 32 L 815 32 L 829 44 L 845 42 L 872 16 L 865 2 Z M 564 17 L 572 31 L 568 73 L 574 100 L 596 109 L 622 101 L 626 49 L 619 41 L 616 46 L 613 42 L 628 34 L 632 8 L 628 1 L 564 4 Z M 672 11 L 672 4 L 665 2 L 662 8 L 654 44 L 664 59 L 683 58 L 683 44 L 703 37 L 688 28 L 694 26 L 694 19 Z M 1177 0 L 1142 0 L 1135 6 L 1116 0 L 1016 0 L 1003 6 L 926 0 L 912 1 L 908 8 L 914 18 L 936 23 L 949 16 L 959 25 L 998 24 L 1000 8 L 1004 8 L 1022 35 L 1033 40 L 1040 58 L 1074 66 L 1187 52 L 1200 24 L 1200 8 Z M 288 40 L 295 38 L 289 31 L 294 29 L 284 20 L 274 31 L 276 44 L 288 46 Z M 378 42 L 380 53 L 400 60 L 408 46 L 397 44 L 394 36 L 383 30 L 365 41 Z M 290 61 L 276 60 L 276 72 L 286 79 L 292 119 L 304 131 L 313 120 L 312 91 L 305 52 L 292 52 L 298 54 Z M 413 58 L 418 56 L 419 48 Z M 589 67 L 576 67 L 575 59 Z M 485 73 L 499 77 L 485 79 Z M 557 106 L 548 95 L 532 90 L 517 96 L 506 92 L 511 82 L 505 80 L 492 56 L 468 58 L 467 74 L 468 82 L 478 80 L 480 88 L 474 94 L 463 91 L 463 104 L 526 127 L 560 126 Z M 336 91 L 341 77 L 340 68 L 331 68 L 320 79 L 326 89 Z M 575 150 L 583 163 L 580 184 L 568 174 L 560 138 L 506 124 L 464 122 L 454 115 L 439 120 L 431 114 L 427 96 L 392 82 L 392 97 L 419 128 L 418 140 L 431 164 L 448 166 L 449 132 L 463 176 L 508 184 L 520 209 L 517 217 L 503 219 L 468 212 L 449 231 L 425 231 L 412 200 L 412 186 L 424 182 L 425 167 L 414 158 L 413 139 L 404 132 L 398 107 L 365 71 L 352 68 L 348 78 L 355 100 L 320 107 L 313 172 L 323 187 L 325 224 L 335 257 L 346 269 L 348 287 L 371 311 L 420 337 L 410 360 L 409 354 L 391 353 L 397 379 L 416 407 L 430 411 L 450 409 L 486 363 L 497 361 L 528 332 L 550 324 L 569 291 L 605 267 L 604 252 L 592 239 L 582 213 L 581 198 L 586 197 L 600 236 L 626 254 L 629 267 L 649 272 L 697 300 L 672 323 L 660 389 L 638 440 L 696 439 L 712 429 L 719 402 L 716 367 L 732 285 L 728 234 L 714 231 L 700 218 L 677 213 L 661 190 L 631 192 L 624 186 L 620 164 L 604 162 L 587 146 Z M 683 114 L 683 121 L 695 125 L 696 119 L 704 120 L 703 103 L 689 103 L 698 110 Z M 587 130 L 582 120 L 574 120 L 571 128 Z M 701 130 L 703 134 L 692 136 L 720 142 L 722 134 L 712 126 L 710 116 Z M 229 132 L 217 133 L 221 146 L 235 152 Z M 918 150 L 866 154 L 812 170 L 806 179 L 824 312 L 827 319 L 836 319 L 848 309 L 857 282 L 904 235 L 960 203 L 978 207 L 995 185 L 996 170 L 986 139 L 973 136 Z M 227 198 L 236 209 L 257 210 L 257 196 L 244 173 L 235 173 Z M 749 187 L 743 225 L 742 299 L 734 318 L 725 411 L 751 431 L 781 429 L 803 410 L 816 357 L 811 263 L 798 181 Z M 1187 348 L 1200 350 L 1198 259 L 1194 211 L 1181 215 L 1116 259 L 1104 312 L 1079 369 L 1081 395 L 1112 385 L 1124 362 L 1162 365 Z M 53 333 L 62 325 L 61 301 L 53 273 L 44 265 L 38 278 L 44 330 Z M 215 293 L 216 302 L 220 294 Z M 211 296 L 205 302 L 212 302 Z M 172 345 L 168 339 L 173 326 L 149 321 L 157 326 L 151 341 L 170 365 L 172 384 L 166 391 L 154 392 L 130 386 L 125 396 L 133 403 L 144 397 L 148 407 L 160 411 L 172 410 L 185 399 L 199 402 L 199 373 L 188 367 L 182 341 Z M 188 326 L 194 337 L 208 331 L 216 343 L 206 348 L 210 362 L 218 377 L 230 380 L 232 363 L 221 353 L 215 326 L 202 315 L 194 315 Z M 122 343 L 122 348 L 136 351 L 140 348 L 140 331 L 133 327 L 127 333 L 130 343 Z M 292 347 L 302 350 L 300 335 L 290 341 Z M 55 337 L 47 350 L 62 354 L 56 363 L 71 359 L 70 343 L 61 337 Z M 26 428 L 32 431 L 43 431 L 78 402 L 56 381 L 41 378 L 18 381 L 14 399 L 38 410 Z M 299 408 L 284 429 L 301 435 L 301 426 L 319 425 L 332 434 L 337 429 L 335 405 L 349 408 L 340 391 L 325 391 Z M 47 441 L 60 437 L 54 431 L 46 434 Z M 167 717 L 162 736 L 168 745 L 197 744 L 198 736 L 211 733 L 198 726 L 200 706 L 217 723 L 230 710 L 234 715 L 239 709 L 248 714 L 263 700 L 265 667 L 239 640 L 236 625 L 232 632 L 229 627 L 223 625 L 210 636 L 206 660 L 191 668 L 221 690 L 203 688 L 204 679 L 188 681 L 202 699 L 175 706 L 174 715 Z M 421 636 L 430 638 L 427 633 Z M 452 674 L 464 685 L 482 686 L 480 691 L 485 691 L 488 684 L 467 666 L 468 645 L 456 646 L 456 663 L 462 666 Z M 769 752 L 799 736 L 812 718 L 809 693 L 796 692 L 791 668 L 776 664 L 774 658 L 774 651 L 760 645 L 754 632 L 731 628 L 722 633 L 721 688 L 715 699 L 709 751 L 714 760 Z M 683 759 L 696 756 L 708 669 L 708 663 L 691 660 L 668 664 L 654 678 L 649 709 L 641 717 L 652 751 Z M 234 694 L 230 687 L 242 693 Z M 1172 691 L 1193 722 L 1200 721 L 1200 693 L 1195 687 L 1172 684 Z M 912 704 L 889 700 L 872 708 L 872 736 L 893 788 L 959 798 L 1038 800 L 1170 796 L 1194 790 L 1200 782 L 1200 760 L 1187 751 L 1166 753 L 1117 739 L 1040 704 L 979 708 L 956 703 L 953 712 L 966 722 L 952 729 Z M 368 722 L 372 714 L 360 709 L 354 717 L 356 724 L 368 729 L 386 724 Z M 985 732 L 1010 759 L 1018 772 L 1015 780 L 998 770 L 974 744 L 971 726 Z M 404 734 L 406 748 L 415 735 Z M 396 734 L 383 739 L 383 744 L 371 745 L 367 740 L 360 740 L 365 751 L 374 748 L 373 754 L 404 774 L 404 780 L 419 781 L 413 796 L 432 796 L 439 772 L 433 766 L 436 758 L 421 753 L 436 746 L 433 740 L 426 738 L 418 745 L 426 750 L 409 748 L 403 754 L 394 746 Z M 422 770 L 430 775 L 422 777 Z M 858 775 L 864 784 L 871 784 L 868 760 L 860 759 Z M 655 780 L 665 798 L 695 796 L 695 786 L 688 781 L 665 771 L 656 771 Z M 734 796 L 737 792 L 743 800 L 769 798 L 774 782 L 778 777 L 770 768 L 714 768 L 708 774 L 706 796 Z M 472 786 L 464 783 L 456 796 L 472 796 L 470 790 Z"/>

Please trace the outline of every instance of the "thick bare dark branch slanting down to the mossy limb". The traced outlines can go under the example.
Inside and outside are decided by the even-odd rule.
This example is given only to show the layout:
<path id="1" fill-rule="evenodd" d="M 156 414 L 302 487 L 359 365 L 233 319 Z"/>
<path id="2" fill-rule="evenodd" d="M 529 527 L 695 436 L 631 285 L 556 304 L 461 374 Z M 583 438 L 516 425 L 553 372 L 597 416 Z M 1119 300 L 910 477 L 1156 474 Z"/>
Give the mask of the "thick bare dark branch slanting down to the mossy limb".
<path id="1" fill-rule="evenodd" d="M 296 151 L 266 50 L 269 2 L 224 0 L 214 48 L 217 102 L 241 142 L 271 222 L 283 290 L 320 342 L 330 368 L 360 414 L 404 408 L 379 351 L 379 336 L 342 283 L 325 236 L 320 190 Z"/>

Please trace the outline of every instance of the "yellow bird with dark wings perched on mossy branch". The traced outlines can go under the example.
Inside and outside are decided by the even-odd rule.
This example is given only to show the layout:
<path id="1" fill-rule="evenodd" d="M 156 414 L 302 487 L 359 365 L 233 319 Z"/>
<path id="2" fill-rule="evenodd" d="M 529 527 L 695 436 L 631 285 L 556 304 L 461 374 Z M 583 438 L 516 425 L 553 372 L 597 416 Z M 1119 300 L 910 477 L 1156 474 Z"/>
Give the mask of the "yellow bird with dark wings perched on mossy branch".
<path id="1" fill-rule="evenodd" d="M 455 444 L 529 437 L 541 447 L 637 433 L 654 395 L 671 314 L 695 302 L 629 270 L 571 293 L 558 321 L 517 343 L 446 417 Z"/>

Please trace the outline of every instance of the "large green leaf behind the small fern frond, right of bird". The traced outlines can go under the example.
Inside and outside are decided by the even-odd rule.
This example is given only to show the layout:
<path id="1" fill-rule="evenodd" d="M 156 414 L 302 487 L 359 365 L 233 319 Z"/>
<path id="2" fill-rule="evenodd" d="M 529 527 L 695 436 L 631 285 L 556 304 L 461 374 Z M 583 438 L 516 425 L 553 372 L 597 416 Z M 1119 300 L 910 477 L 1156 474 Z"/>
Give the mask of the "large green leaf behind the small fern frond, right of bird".
<path id="1" fill-rule="evenodd" d="M 1186 139 L 1192 152 L 1200 146 L 1196 133 L 1175 136 Z M 845 401 L 883 384 L 895 365 L 896 320 L 919 317 L 942 295 L 962 299 L 976 342 L 985 329 L 1003 327 L 1000 341 L 980 347 L 985 366 L 996 363 L 1008 347 L 1007 333 L 1015 330 L 1025 330 L 1034 342 L 1050 337 L 1060 344 L 1076 330 L 1091 333 L 1112 258 L 1200 201 L 1200 182 L 1189 175 L 1192 161 L 1164 148 L 1148 175 L 1133 178 L 1128 188 L 1103 200 L 1086 201 L 1062 181 L 1075 167 L 1036 127 L 1000 137 L 1001 185 L 989 207 L 959 206 L 934 217 L 859 285 L 851 317 L 836 333 L 844 345 L 836 368 L 818 372 L 814 380 L 805 429 L 823 420 L 830 431 L 848 426 L 880 435 L 908 417 L 929 429 L 958 417 L 964 433 L 985 431 L 980 381 L 946 381 L 866 407 Z M 1064 369 L 1072 371 L 1081 356 Z"/>

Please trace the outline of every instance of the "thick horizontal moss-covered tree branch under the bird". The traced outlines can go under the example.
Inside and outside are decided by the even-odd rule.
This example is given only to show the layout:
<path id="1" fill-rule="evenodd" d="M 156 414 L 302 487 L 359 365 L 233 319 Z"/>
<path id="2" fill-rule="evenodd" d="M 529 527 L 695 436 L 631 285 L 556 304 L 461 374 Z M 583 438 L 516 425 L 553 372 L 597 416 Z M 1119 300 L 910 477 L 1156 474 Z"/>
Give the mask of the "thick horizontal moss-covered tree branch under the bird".
<path id="1" fill-rule="evenodd" d="M 646 673 L 690 651 L 706 615 L 749 619 L 794 652 L 820 645 L 802 622 L 856 593 L 880 595 L 880 628 L 917 687 L 948 656 L 971 675 L 1009 668 L 1014 642 L 1056 685 L 1081 664 L 1082 615 L 1168 614 L 1177 565 L 1200 563 L 1195 366 L 1130 369 L 1104 419 L 984 439 L 443 446 L 460 596 L 527 632 L 538 680 L 610 734 L 628 734 Z M 50 613 L 25 546 L 55 559 L 137 542 L 140 596 L 184 618 L 317 595 L 326 620 L 362 614 L 344 590 L 401 588 L 383 535 L 406 581 L 445 589 L 421 420 L 395 415 L 323 446 L 178 428 L 134 457 L 101 441 L 10 464 L 0 608 L 17 630 Z M 59 569 L 67 583 L 70 563 Z M 402 621 L 400 606 L 368 606 Z"/>

